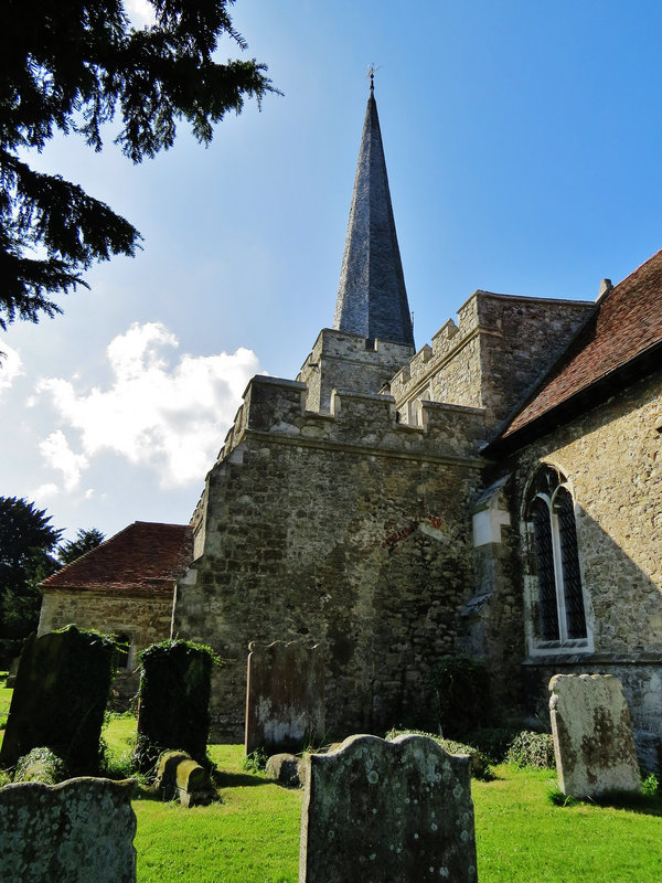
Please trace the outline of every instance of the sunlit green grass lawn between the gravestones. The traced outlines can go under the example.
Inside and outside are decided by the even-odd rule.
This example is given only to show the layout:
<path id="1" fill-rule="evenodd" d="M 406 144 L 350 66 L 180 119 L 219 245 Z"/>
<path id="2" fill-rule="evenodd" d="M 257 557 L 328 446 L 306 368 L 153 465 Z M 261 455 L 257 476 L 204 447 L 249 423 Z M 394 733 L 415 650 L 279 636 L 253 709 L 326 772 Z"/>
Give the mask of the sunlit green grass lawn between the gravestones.
<path id="1" fill-rule="evenodd" d="M 134 732 L 131 717 L 116 715 L 105 728 L 116 766 L 130 754 Z M 241 745 L 211 745 L 210 756 L 223 802 L 183 809 L 140 790 L 138 883 L 296 883 L 302 791 L 244 770 Z M 662 798 L 641 798 L 629 809 L 564 807 L 551 799 L 551 772 L 494 772 L 493 781 L 471 785 L 480 883 L 662 880 Z"/>

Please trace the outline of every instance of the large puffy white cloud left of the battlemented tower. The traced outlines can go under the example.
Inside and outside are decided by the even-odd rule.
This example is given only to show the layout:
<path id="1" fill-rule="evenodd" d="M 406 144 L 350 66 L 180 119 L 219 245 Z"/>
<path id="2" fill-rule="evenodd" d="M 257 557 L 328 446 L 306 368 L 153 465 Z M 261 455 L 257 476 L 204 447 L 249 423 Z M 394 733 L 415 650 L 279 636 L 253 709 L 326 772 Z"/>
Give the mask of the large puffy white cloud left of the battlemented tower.
<path id="1" fill-rule="evenodd" d="M 252 350 L 167 358 L 178 340 L 158 322 L 132 325 L 107 348 L 113 374 L 107 389 L 79 390 L 79 380 L 47 377 L 46 394 L 63 425 L 41 444 L 67 490 L 79 485 L 95 455 L 113 451 L 154 469 L 162 487 L 201 482 L 212 466 L 249 379 L 259 370 Z"/>

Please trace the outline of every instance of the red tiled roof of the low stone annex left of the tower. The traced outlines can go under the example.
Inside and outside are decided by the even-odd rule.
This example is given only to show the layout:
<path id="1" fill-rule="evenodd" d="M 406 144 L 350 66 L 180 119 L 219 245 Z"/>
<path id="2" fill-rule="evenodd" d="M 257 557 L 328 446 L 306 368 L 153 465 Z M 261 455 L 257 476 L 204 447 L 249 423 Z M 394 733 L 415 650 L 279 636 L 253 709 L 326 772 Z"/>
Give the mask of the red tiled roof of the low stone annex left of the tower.
<path id="1" fill-rule="evenodd" d="M 189 525 L 135 521 L 41 585 L 44 589 L 172 592 L 192 560 Z"/>

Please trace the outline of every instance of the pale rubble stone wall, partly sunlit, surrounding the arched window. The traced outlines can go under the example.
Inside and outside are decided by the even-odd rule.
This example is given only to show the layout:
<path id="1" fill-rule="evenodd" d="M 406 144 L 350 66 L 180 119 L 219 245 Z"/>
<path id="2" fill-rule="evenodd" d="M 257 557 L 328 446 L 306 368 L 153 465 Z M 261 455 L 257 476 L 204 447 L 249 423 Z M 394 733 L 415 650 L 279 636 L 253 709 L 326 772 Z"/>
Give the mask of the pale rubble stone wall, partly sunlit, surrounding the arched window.
<path id="1" fill-rule="evenodd" d="M 532 711 L 546 706 L 554 673 L 605 673 L 621 680 L 636 737 L 652 748 L 662 732 L 662 379 L 648 377 L 513 458 L 511 517 L 520 556 Z M 545 650 L 536 643 L 537 583 L 522 513 L 540 464 L 559 469 L 575 501 L 589 640 Z M 651 749 L 652 749 L 651 748 Z M 651 752 L 649 751 L 649 757 Z"/>

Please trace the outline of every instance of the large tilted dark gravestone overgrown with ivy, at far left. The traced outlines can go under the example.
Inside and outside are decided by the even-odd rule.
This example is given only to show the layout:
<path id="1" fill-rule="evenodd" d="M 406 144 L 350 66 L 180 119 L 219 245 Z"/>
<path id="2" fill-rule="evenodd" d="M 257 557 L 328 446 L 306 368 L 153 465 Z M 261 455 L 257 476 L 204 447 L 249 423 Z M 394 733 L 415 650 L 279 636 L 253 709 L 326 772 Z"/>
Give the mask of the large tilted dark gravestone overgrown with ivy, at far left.
<path id="1" fill-rule="evenodd" d="M 21 656 L 0 766 L 47 746 L 73 774 L 96 773 L 115 643 L 67 626 L 30 638 Z"/>

